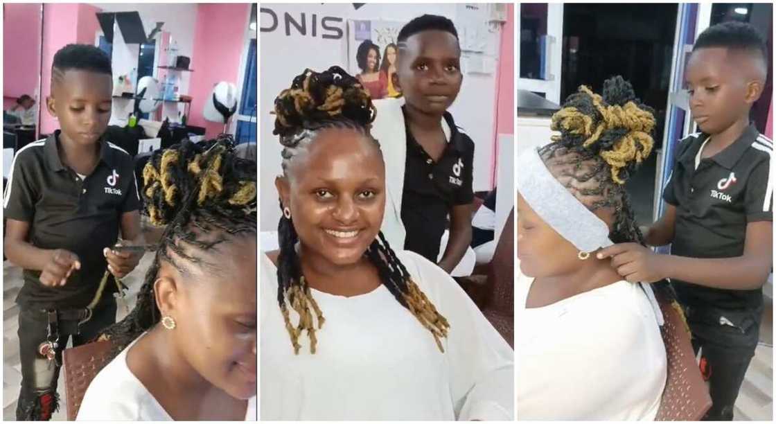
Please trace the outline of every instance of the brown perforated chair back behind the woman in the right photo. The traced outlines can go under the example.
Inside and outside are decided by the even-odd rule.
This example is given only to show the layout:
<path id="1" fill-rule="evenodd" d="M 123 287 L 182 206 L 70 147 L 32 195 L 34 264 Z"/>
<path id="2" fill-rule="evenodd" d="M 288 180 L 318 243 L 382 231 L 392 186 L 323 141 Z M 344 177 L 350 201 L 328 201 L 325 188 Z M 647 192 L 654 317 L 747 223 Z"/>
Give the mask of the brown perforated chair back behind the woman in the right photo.
<path id="1" fill-rule="evenodd" d="M 660 299 L 665 324 L 660 328 L 668 362 L 666 388 L 656 421 L 699 421 L 712 407 L 712 398 L 695 362 L 690 334 L 679 312 Z"/>

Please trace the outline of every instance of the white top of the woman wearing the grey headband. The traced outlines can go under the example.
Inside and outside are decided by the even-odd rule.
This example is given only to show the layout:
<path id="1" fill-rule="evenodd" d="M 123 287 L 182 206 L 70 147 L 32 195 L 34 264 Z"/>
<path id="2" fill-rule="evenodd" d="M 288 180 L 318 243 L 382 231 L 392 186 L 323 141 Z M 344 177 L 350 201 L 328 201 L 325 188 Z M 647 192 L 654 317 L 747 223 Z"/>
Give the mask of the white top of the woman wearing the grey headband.
<path id="1" fill-rule="evenodd" d="M 618 281 L 525 308 L 533 279 L 518 266 L 516 283 L 519 420 L 655 418 L 666 349 L 639 284 Z"/>

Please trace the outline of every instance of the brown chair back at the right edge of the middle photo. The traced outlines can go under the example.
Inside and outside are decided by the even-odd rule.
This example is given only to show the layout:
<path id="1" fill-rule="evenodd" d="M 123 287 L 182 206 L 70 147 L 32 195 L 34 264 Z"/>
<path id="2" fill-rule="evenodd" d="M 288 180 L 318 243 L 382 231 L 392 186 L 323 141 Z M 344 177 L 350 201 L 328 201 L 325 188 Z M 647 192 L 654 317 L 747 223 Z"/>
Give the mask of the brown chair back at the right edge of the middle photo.
<path id="1" fill-rule="evenodd" d="M 486 286 L 488 297 L 483 315 L 514 347 L 514 207 L 498 238 Z"/>

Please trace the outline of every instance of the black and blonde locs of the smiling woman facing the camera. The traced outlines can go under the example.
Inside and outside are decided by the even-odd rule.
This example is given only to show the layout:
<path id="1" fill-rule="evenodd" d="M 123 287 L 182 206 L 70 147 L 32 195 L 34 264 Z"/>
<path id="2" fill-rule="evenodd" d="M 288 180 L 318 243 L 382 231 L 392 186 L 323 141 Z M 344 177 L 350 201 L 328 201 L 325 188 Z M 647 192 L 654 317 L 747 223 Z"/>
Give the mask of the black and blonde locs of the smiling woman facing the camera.
<path id="1" fill-rule="evenodd" d="M 305 70 L 293 79 L 289 89 L 280 92 L 275 99 L 273 134 L 279 135 L 283 146 L 284 175 L 287 175 L 294 156 L 310 148 L 323 130 L 354 130 L 374 142 L 379 149 L 379 144 L 369 134 L 375 115 L 369 92 L 352 75 L 336 66 L 320 73 Z M 280 207 L 283 207 L 282 202 Z M 293 217 L 280 218 L 278 237 L 278 304 L 286 321 L 286 330 L 294 353 L 300 352 L 302 332 L 307 332 L 310 353 L 315 353 L 316 330 L 324 325 L 325 320 L 302 275 L 295 247 L 299 236 L 293 226 Z M 414 283 L 382 233 L 369 245 L 365 255 L 376 266 L 380 279 L 393 297 L 431 332 L 438 348 L 444 352 L 441 339 L 446 337 L 449 329 L 447 320 Z M 289 306 L 300 317 L 296 325 L 291 322 Z"/>

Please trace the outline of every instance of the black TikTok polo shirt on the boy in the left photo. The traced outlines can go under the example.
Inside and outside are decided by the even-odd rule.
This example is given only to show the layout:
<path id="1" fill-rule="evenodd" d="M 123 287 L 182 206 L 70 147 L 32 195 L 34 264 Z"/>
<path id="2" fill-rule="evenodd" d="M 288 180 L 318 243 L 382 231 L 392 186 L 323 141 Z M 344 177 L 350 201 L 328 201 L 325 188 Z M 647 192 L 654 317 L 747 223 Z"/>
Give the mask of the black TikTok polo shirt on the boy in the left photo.
<path id="1" fill-rule="evenodd" d="M 59 130 L 16 153 L 4 212 L 6 218 L 29 222 L 32 245 L 74 252 L 81 269 L 71 273 L 64 287 L 55 288 L 40 283 L 40 271 L 25 269 L 24 286 L 16 297 L 23 307 L 85 307 L 106 271 L 102 249 L 116 243 L 121 215 L 140 206 L 132 158 L 126 151 L 100 141 L 100 160 L 92 174 L 81 179 L 62 164 L 58 136 Z M 106 294 L 114 292 L 111 280 Z"/>

